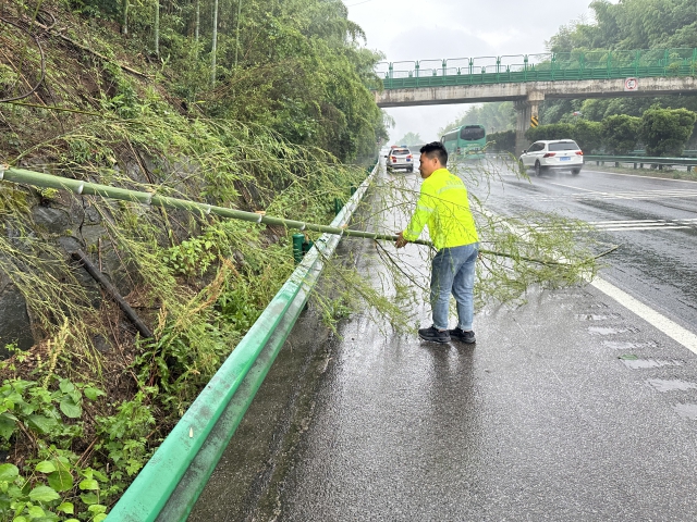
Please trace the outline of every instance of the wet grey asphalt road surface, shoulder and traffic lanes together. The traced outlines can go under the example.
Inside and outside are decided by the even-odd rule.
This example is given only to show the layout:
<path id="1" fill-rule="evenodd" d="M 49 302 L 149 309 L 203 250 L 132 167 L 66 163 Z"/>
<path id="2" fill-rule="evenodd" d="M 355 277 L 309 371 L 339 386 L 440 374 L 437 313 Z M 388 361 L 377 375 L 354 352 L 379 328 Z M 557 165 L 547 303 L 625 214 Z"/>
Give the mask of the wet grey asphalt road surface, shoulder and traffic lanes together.
<path id="1" fill-rule="evenodd" d="M 599 222 L 625 245 L 603 278 L 695 332 L 697 184 L 502 179 L 492 210 Z M 365 241 L 341 248 L 380 272 Z M 429 324 L 426 307 L 415 312 Z M 189 520 L 695 519 L 697 356 L 596 288 L 481 310 L 475 347 L 390 335 L 366 315 L 313 343 L 313 321 Z"/>

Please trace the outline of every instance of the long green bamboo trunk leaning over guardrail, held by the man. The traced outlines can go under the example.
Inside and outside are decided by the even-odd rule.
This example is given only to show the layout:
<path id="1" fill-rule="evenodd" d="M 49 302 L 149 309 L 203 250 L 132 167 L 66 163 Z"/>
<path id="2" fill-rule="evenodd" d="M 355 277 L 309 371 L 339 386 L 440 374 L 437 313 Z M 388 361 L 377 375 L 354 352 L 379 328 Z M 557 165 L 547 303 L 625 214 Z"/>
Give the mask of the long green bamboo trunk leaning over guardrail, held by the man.
<path id="1" fill-rule="evenodd" d="M 109 199 L 120 199 L 124 201 L 133 201 L 143 204 L 151 204 L 155 207 L 164 207 L 169 209 L 188 210 L 191 212 L 200 212 L 201 214 L 215 214 L 221 217 L 231 217 L 234 220 L 249 221 L 252 223 L 264 223 L 267 225 L 281 225 L 288 228 L 298 231 L 313 231 L 328 234 L 339 234 L 342 236 L 364 237 L 366 239 L 380 239 L 386 241 L 394 241 L 396 236 L 391 234 L 377 234 L 374 232 L 350 231 L 343 226 L 318 225 L 316 223 L 306 223 L 303 221 L 285 220 L 283 217 L 273 217 L 256 212 L 245 212 L 243 210 L 227 209 L 224 207 L 216 207 L 207 203 L 198 203 L 186 199 L 170 198 L 168 196 L 158 196 L 152 192 L 142 192 L 138 190 L 129 190 L 126 188 L 117 188 L 109 185 L 99 185 L 97 183 L 81 182 L 80 179 L 70 179 L 68 177 L 53 176 L 51 174 L 41 174 L 39 172 L 25 171 L 23 169 L 3 169 L 0 165 L 0 181 L 13 183 L 25 183 L 36 187 L 57 188 L 69 190 L 77 195 L 101 196 Z M 371 179 L 368 177 L 367 179 Z M 364 184 L 366 182 L 363 182 Z M 362 185 L 363 186 L 363 185 Z M 352 187 L 352 194 L 355 187 Z M 334 220 L 335 221 L 335 220 Z M 411 241 L 417 245 L 431 246 L 430 241 L 415 240 Z"/>

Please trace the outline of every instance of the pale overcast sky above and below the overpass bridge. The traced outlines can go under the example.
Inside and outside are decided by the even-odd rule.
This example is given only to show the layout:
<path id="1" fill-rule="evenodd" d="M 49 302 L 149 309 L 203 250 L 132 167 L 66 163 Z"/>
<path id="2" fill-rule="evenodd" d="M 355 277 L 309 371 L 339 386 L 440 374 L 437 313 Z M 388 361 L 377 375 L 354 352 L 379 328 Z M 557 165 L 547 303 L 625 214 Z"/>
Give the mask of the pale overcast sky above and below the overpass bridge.
<path id="1" fill-rule="evenodd" d="M 545 40 L 561 25 L 590 21 L 591 0 L 344 0 L 348 18 L 366 33 L 367 47 L 386 61 L 469 58 L 545 52 Z M 616 0 L 612 0 L 616 3 Z M 387 109 L 396 126 L 426 141 L 456 120 L 467 105 Z"/>

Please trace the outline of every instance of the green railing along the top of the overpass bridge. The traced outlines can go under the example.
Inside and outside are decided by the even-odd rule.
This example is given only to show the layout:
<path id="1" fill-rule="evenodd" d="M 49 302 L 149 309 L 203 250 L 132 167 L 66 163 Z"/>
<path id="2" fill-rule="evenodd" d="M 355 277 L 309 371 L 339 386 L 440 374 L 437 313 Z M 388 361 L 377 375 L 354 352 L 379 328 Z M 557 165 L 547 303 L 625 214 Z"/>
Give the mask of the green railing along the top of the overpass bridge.
<path id="1" fill-rule="evenodd" d="M 380 62 L 386 89 L 697 75 L 697 49 L 572 51 Z"/>

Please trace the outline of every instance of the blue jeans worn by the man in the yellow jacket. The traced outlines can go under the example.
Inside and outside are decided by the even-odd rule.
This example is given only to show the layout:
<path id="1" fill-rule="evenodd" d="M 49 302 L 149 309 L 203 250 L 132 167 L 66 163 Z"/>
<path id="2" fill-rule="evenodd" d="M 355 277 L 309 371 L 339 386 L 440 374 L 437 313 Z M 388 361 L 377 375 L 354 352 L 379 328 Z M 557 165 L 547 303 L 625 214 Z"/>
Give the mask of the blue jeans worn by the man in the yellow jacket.
<path id="1" fill-rule="evenodd" d="M 431 263 L 431 310 L 433 326 L 448 328 L 450 295 L 457 301 L 457 327 L 472 330 L 475 315 L 473 290 L 475 287 L 475 263 L 479 244 L 442 248 Z"/>

